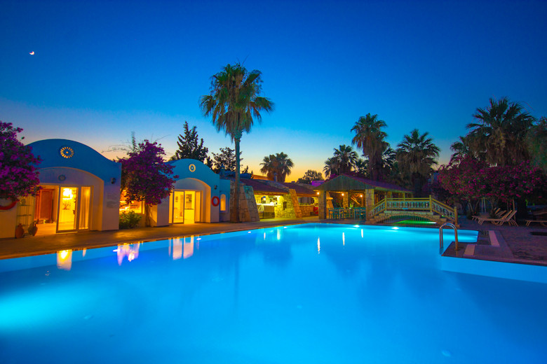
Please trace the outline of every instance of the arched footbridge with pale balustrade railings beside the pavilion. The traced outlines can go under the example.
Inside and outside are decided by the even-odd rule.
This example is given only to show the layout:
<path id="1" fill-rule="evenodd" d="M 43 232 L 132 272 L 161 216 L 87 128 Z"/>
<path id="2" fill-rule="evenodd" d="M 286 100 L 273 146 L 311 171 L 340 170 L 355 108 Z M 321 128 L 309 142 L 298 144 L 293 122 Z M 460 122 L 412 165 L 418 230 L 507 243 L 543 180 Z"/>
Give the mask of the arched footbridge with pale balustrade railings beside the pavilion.
<path id="1" fill-rule="evenodd" d="M 429 211 L 432 215 L 440 215 L 455 225 L 458 223 L 457 209 L 443 204 L 443 202 L 439 202 L 431 196 L 413 199 L 384 198 L 384 200 L 381 200 L 370 209 L 367 218 L 372 219 L 382 212 L 390 215 L 398 215 L 404 213 L 412 214 L 417 211 Z"/>

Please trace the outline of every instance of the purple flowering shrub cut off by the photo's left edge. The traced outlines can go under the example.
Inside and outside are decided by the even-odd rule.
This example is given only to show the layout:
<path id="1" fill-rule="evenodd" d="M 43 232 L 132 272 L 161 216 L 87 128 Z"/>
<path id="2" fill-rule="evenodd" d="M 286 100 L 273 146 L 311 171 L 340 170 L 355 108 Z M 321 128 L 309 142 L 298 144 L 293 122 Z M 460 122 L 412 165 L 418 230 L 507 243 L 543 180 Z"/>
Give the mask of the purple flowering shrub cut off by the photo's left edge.
<path id="1" fill-rule="evenodd" d="M 32 148 L 17 139 L 20 127 L 0 121 L 0 198 L 16 201 L 20 196 L 34 195 L 40 183 Z"/>

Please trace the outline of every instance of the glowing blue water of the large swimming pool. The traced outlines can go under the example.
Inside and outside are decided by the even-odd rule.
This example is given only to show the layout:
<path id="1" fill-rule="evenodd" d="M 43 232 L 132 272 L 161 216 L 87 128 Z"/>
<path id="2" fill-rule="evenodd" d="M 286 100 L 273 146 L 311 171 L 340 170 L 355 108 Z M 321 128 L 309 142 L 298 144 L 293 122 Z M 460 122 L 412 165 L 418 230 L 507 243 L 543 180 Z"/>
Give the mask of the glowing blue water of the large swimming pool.
<path id="1" fill-rule="evenodd" d="M 304 224 L 0 260 L 0 363 L 545 363 L 547 284 L 442 259 Z"/>

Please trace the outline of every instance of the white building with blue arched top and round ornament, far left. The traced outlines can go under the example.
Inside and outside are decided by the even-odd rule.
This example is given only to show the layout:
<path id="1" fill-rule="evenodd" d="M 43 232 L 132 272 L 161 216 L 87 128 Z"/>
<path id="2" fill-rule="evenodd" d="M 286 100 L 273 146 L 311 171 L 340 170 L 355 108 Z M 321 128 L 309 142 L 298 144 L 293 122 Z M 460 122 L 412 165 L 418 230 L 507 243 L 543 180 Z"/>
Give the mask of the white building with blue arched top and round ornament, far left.
<path id="1" fill-rule="evenodd" d="M 37 221 L 38 235 L 82 230 L 117 230 L 121 165 L 77 141 L 46 139 L 29 144 L 42 160 L 41 189 L 0 210 L 0 238 L 14 237 Z"/>

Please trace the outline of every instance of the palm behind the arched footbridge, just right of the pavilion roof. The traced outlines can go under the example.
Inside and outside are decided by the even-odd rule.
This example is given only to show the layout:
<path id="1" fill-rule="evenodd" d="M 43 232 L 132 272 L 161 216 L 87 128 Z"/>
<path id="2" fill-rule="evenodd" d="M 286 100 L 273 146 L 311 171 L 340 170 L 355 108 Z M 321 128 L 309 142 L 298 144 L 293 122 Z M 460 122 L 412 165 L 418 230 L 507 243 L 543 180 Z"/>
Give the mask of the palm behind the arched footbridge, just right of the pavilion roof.
<path id="1" fill-rule="evenodd" d="M 410 178 L 416 196 L 421 195 L 421 186 L 439 157 L 440 150 L 433 144 L 433 139 L 427 137 L 428 134 L 425 132 L 420 135 L 417 129 L 412 130 L 410 135 L 403 137 L 396 151 L 399 168 Z"/>

